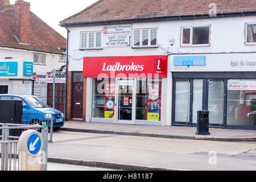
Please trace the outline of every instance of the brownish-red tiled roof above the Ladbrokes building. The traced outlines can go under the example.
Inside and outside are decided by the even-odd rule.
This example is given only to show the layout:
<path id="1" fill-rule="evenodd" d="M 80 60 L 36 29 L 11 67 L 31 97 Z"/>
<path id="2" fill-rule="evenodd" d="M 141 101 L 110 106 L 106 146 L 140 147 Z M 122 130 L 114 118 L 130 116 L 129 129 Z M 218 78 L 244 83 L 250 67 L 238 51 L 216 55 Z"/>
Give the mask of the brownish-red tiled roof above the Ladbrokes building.
<path id="1" fill-rule="evenodd" d="M 256 10 L 256 0 L 100 0 L 65 23 L 208 14 L 215 3 L 217 13 Z"/>

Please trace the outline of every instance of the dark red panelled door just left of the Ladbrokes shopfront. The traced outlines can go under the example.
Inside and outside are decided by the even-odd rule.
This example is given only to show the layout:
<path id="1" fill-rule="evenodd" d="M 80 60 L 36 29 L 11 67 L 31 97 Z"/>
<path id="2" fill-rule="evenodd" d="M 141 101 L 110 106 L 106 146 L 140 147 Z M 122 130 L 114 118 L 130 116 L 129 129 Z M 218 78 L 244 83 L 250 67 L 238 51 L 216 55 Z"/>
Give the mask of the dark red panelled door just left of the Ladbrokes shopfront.
<path id="1" fill-rule="evenodd" d="M 82 118 L 82 105 L 83 105 L 83 93 L 84 83 L 73 82 L 72 85 L 72 118 Z"/>

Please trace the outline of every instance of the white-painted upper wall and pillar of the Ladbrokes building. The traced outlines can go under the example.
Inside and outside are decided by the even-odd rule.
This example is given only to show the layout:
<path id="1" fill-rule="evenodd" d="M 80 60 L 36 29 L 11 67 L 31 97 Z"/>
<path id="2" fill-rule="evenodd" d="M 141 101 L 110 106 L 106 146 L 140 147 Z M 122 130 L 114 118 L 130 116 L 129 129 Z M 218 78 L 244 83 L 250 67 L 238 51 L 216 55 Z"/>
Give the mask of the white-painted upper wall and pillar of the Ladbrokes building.
<path id="1" fill-rule="evenodd" d="M 69 67 L 68 71 L 82 71 L 83 57 L 94 56 L 148 56 L 165 55 L 166 50 L 171 53 L 201 53 L 207 55 L 205 67 L 189 67 L 180 69 L 174 67 L 173 57 L 168 56 L 168 77 L 167 77 L 167 112 L 166 125 L 171 126 L 171 103 L 172 103 L 172 73 L 179 71 L 255 71 L 255 67 L 232 67 L 230 61 L 255 60 L 255 53 L 250 54 L 226 54 L 228 52 L 255 52 L 256 45 L 245 45 L 245 23 L 256 23 L 255 16 L 244 16 L 234 18 L 215 18 L 200 20 L 181 20 L 171 22 L 133 23 L 132 28 L 158 28 L 158 45 L 162 48 L 104 48 L 80 51 L 80 32 L 102 31 L 104 26 L 92 27 L 70 27 L 69 30 Z M 210 26 L 210 46 L 204 47 L 182 47 L 180 46 L 181 27 L 189 26 Z M 169 40 L 174 39 L 174 45 Z M 132 39 L 133 40 L 133 39 Z M 224 54 L 209 54 L 221 53 Z M 246 55 L 246 56 L 245 56 Z M 256 61 L 256 60 L 255 60 Z"/>

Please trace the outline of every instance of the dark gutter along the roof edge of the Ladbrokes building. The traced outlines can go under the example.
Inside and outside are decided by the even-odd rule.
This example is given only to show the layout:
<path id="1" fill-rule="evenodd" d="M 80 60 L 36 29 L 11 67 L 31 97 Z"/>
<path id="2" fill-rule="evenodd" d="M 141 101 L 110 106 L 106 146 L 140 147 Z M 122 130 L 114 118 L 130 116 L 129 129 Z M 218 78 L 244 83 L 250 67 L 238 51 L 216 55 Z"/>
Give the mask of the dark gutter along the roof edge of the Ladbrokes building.
<path id="1" fill-rule="evenodd" d="M 99 20 L 90 22 L 75 22 L 62 23 L 61 27 L 80 27 L 80 26 L 98 26 L 106 24 L 121 24 L 121 23 L 146 23 L 146 22 L 163 22 L 175 20 L 193 20 L 193 19 L 210 19 L 210 18 L 232 18 L 239 16 L 256 16 L 256 11 L 237 11 L 230 13 L 217 13 L 216 16 L 209 14 L 192 14 L 192 15 L 175 15 L 175 16 L 159 16 L 149 18 L 135 18 L 135 19 L 117 19 L 117 20 Z"/>

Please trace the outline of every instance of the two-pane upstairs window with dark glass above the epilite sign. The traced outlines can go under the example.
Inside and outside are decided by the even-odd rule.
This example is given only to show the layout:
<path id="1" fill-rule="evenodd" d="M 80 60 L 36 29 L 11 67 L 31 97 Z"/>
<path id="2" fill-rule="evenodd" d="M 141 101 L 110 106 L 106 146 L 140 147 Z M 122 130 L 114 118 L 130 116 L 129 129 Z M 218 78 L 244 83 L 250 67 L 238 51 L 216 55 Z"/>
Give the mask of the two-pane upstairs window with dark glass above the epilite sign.
<path id="1" fill-rule="evenodd" d="M 181 46 L 209 46 L 210 27 L 181 28 Z"/>

